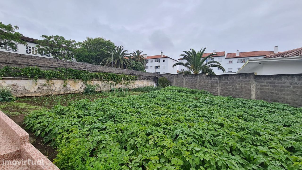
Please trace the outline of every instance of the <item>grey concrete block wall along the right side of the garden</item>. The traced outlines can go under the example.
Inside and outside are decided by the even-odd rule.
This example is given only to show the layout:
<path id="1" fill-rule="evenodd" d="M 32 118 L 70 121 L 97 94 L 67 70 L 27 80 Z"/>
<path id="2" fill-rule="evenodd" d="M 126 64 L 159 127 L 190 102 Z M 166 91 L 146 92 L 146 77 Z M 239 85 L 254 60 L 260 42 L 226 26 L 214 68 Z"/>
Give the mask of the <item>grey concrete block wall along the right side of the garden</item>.
<path id="1" fill-rule="evenodd" d="M 204 89 L 214 95 L 302 106 L 302 74 L 256 76 L 253 73 L 206 76 L 162 74 L 171 85 Z"/>

